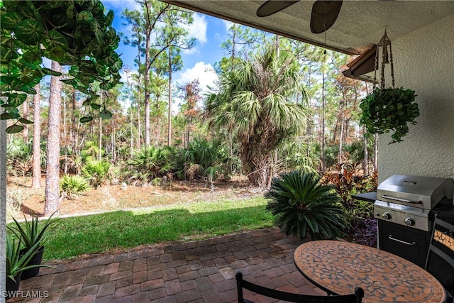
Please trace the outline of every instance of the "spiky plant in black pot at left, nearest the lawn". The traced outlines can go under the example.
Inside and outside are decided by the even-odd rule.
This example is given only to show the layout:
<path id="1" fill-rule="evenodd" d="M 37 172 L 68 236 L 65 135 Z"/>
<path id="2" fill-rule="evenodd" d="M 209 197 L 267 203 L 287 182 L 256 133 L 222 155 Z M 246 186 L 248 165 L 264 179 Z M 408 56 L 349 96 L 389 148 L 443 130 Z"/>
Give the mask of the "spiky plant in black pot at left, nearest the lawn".
<path id="1" fill-rule="evenodd" d="M 55 213 L 54 213 L 55 214 Z M 38 216 L 32 214 L 32 219 L 27 220 L 26 216 L 25 222 L 23 224 L 19 223 L 16 219 L 13 218 L 15 226 L 8 226 L 8 229 L 13 232 L 23 243 L 24 248 L 21 250 L 21 255 L 26 255 L 28 251 L 33 250 L 32 258 L 30 258 L 27 265 L 39 265 L 41 260 L 43 260 L 44 246 L 43 241 L 50 234 L 50 228 L 52 224 L 57 223 L 57 220 L 51 220 L 52 214 L 49 219 L 43 221 L 41 224 L 38 224 Z M 52 226 L 52 228 L 55 226 Z M 24 271 L 21 275 L 22 280 L 26 280 L 31 277 L 38 275 L 40 270 L 39 266 L 29 268 Z"/>

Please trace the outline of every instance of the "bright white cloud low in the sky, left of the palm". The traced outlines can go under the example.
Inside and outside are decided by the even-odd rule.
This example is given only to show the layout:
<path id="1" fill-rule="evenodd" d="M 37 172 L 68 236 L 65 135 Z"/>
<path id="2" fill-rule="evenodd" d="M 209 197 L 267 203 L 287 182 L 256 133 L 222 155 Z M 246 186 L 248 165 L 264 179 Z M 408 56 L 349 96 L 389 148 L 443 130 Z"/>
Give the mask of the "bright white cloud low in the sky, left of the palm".
<path id="1" fill-rule="evenodd" d="M 199 79 L 199 85 L 201 88 L 201 94 L 209 92 L 208 87 L 214 87 L 214 83 L 218 79 L 218 75 L 214 72 L 214 68 L 211 64 L 205 64 L 204 62 L 197 62 L 194 67 L 188 68 L 181 73 L 177 82 L 184 85 L 188 82 L 192 82 L 195 79 Z"/>

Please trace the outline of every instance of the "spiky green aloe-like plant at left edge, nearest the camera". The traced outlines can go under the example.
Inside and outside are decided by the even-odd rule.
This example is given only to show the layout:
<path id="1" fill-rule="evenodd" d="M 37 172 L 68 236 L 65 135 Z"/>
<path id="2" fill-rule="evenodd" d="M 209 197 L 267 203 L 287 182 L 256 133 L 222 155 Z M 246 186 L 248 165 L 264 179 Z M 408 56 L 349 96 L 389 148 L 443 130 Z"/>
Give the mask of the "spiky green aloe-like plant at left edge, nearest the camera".
<path id="1" fill-rule="evenodd" d="M 6 299 L 8 299 L 12 292 L 15 292 L 19 289 L 19 284 L 21 282 L 21 274 L 26 270 L 33 270 L 34 268 L 48 267 L 49 265 L 27 265 L 30 260 L 35 255 L 36 248 L 40 243 L 35 243 L 30 250 L 26 251 L 21 255 L 21 238 L 16 245 L 16 241 L 9 240 L 9 237 L 6 237 Z"/>

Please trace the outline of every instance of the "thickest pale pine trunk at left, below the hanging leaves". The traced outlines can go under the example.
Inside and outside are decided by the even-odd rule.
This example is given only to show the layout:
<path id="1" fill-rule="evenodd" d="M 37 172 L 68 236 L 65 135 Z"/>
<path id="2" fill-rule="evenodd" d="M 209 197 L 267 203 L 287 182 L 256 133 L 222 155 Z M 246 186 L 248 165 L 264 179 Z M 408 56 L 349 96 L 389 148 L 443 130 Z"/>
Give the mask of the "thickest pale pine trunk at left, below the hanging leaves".
<path id="1" fill-rule="evenodd" d="M 58 62 L 52 61 L 52 70 L 61 72 L 62 68 Z M 50 77 L 48 151 L 44 193 L 45 216 L 49 216 L 60 207 L 60 111 L 62 106 L 60 77 Z"/>

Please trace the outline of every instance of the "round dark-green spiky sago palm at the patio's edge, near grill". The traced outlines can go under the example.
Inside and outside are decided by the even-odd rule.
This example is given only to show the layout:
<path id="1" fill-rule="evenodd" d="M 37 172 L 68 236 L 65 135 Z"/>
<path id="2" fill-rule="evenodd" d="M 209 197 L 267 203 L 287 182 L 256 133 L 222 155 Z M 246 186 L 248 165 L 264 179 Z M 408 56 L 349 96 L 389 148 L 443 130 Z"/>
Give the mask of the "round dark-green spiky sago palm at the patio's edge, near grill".
<path id="1" fill-rule="evenodd" d="M 301 240 L 307 235 L 312 239 L 341 236 L 346 225 L 341 199 L 319 180 L 314 173 L 299 170 L 272 180 L 265 193 L 265 198 L 271 199 L 267 211 L 288 236 Z"/>

